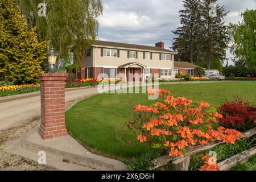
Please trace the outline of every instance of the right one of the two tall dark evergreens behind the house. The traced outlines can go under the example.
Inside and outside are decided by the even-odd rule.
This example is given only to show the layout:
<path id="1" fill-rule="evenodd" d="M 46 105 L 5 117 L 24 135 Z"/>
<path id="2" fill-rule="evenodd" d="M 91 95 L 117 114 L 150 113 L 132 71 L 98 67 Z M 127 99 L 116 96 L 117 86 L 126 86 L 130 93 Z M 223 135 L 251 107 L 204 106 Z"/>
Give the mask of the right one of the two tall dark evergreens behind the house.
<path id="1" fill-rule="evenodd" d="M 218 0 L 201 0 L 201 10 L 203 15 L 203 42 L 202 51 L 207 60 L 207 69 L 211 68 L 211 62 L 215 59 L 219 63 L 225 60 L 226 48 L 228 47 L 228 26 L 225 25 L 224 18 L 228 14 L 224 6 L 217 5 L 217 15 L 209 15 L 210 3 L 217 3 Z"/>

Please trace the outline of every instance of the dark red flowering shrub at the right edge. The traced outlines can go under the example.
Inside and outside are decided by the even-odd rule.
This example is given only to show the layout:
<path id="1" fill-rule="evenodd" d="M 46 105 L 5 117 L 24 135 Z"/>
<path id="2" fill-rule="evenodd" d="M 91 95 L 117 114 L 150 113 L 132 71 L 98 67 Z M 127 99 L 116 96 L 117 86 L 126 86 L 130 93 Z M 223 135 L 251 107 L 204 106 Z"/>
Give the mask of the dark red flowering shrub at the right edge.
<path id="1" fill-rule="evenodd" d="M 239 98 L 233 102 L 224 102 L 220 106 L 223 115 L 221 126 L 239 131 L 246 131 L 256 126 L 256 106 Z"/>

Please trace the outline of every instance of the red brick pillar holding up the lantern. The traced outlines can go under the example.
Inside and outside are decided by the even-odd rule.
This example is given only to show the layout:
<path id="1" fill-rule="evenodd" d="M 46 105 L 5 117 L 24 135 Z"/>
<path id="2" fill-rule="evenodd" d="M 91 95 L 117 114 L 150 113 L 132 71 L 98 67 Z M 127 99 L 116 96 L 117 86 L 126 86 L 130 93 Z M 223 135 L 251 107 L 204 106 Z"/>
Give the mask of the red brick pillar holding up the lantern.
<path id="1" fill-rule="evenodd" d="M 39 73 L 41 80 L 41 126 L 43 139 L 68 135 L 65 126 L 65 80 L 67 73 Z"/>

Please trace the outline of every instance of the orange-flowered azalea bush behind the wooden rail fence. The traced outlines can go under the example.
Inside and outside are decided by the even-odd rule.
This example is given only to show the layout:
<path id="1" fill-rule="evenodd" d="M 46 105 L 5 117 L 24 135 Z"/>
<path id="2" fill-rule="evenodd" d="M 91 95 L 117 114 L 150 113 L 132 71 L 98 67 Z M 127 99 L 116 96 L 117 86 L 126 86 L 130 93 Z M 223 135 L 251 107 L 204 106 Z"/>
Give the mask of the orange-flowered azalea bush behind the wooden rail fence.
<path id="1" fill-rule="evenodd" d="M 234 143 L 243 136 L 224 127 L 214 130 L 213 124 L 218 123 L 222 115 L 207 102 L 174 97 L 167 90 L 148 90 L 148 95 L 155 93 L 159 95 L 155 104 L 134 107 L 135 116 L 129 127 L 141 132 L 140 142 L 148 142 L 164 155 L 184 156 L 193 146 L 217 140 Z"/>

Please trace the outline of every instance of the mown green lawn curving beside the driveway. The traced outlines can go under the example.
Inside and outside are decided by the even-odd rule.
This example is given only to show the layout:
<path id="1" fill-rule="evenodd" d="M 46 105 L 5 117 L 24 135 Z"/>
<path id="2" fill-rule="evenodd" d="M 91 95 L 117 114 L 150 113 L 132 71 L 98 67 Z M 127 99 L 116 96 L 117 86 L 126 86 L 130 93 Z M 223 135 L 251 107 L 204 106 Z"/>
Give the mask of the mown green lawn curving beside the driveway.
<path id="1" fill-rule="evenodd" d="M 213 107 L 235 96 L 256 104 L 256 82 L 214 82 L 210 84 L 160 85 L 174 96 L 204 100 Z M 136 135 L 127 129 L 133 106 L 154 101 L 146 94 L 98 94 L 72 107 L 66 113 L 69 133 L 94 153 L 113 158 L 141 155 L 146 151 Z"/>

